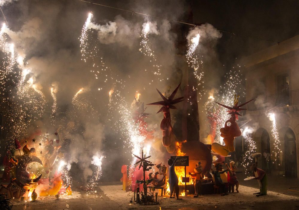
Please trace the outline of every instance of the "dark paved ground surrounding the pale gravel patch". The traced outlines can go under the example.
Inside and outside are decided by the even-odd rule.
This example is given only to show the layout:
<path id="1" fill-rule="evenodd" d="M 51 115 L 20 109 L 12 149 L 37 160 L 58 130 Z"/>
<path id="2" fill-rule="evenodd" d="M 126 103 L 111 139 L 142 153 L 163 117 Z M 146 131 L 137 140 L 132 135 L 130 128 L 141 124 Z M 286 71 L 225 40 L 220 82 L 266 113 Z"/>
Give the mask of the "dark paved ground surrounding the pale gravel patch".
<path id="1" fill-rule="evenodd" d="M 242 173 L 237 173 L 238 179 L 240 184 L 248 186 L 248 187 L 255 187 L 258 188 L 258 183 L 256 180 L 244 181 L 243 179 L 246 177 Z M 113 184 L 120 184 L 119 182 L 110 182 L 110 183 L 99 183 L 99 185 L 113 185 Z M 298 179 L 291 179 L 283 176 L 269 176 L 268 177 L 268 190 L 274 191 L 277 193 L 283 193 L 286 195 L 292 195 L 299 197 L 299 192 L 293 192 L 288 190 L 289 187 L 298 187 L 295 190 L 299 191 L 299 180 Z M 58 209 L 120 209 L 120 206 L 109 199 L 99 188 L 97 189 L 97 193 L 86 195 L 86 192 L 81 191 L 81 198 L 80 199 L 72 199 L 72 200 L 64 200 L 54 203 L 33 203 L 33 202 L 26 202 L 26 203 L 18 203 L 17 205 L 13 206 L 13 209 L 16 210 L 25 210 L 25 209 L 32 209 L 32 210 L 58 210 Z M 215 198 L 216 199 L 216 198 Z M 280 202 L 265 202 L 265 203 L 248 203 L 248 204 L 237 204 L 232 203 L 229 206 L 199 206 L 199 207 L 184 207 L 180 208 L 177 206 L 175 208 L 166 208 L 163 207 L 163 204 L 160 205 L 161 209 L 182 209 L 182 210 L 191 210 L 191 209 L 298 209 L 299 210 L 299 201 L 280 201 Z M 135 208 L 138 207 L 135 205 Z M 1 208 L 0 208 L 1 209 Z M 157 206 L 159 209 L 159 206 Z"/>

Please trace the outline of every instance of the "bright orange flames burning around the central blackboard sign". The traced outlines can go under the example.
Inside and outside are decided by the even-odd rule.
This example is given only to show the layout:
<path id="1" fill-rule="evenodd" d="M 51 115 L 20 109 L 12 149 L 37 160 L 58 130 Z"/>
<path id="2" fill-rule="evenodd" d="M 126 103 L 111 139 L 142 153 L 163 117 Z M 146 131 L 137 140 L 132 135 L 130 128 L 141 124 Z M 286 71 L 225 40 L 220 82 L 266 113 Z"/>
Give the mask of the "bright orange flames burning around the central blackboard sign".
<path id="1" fill-rule="evenodd" d="M 175 143 L 175 147 L 176 147 L 176 156 L 185 156 L 186 153 L 184 153 L 182 150 L 181 150 L 181 147 L 182 147 L 182 143 L 185 143 L 187 140 L 183 141 L 183 142 L 176 142 Z M 182 179 L 183 177 L 185 177 L 185 167 L 183 166 L 177 166 L 177 167 L 174 167 L 174 171 L 177 175 L 177 178 L 179 180 L 179 185 L 185 185 L 185 183 L 182 182 Z M 191 176 L 186 173 L 186 177 L 190 177 L 190 181 L 187 182 L 186 184 L 189 184 L 191 182 L 192 184 L 192 179 L 191 179 Z M 166 193 L 170 195 L 170 189 L 169 189 L 169 184 L 168 184 L 168 180 L 167 180 L 167 188 L 166 188 Z M 180 196 L 185 196 L 185 190 L 183 192 L 180 193 Z"/>

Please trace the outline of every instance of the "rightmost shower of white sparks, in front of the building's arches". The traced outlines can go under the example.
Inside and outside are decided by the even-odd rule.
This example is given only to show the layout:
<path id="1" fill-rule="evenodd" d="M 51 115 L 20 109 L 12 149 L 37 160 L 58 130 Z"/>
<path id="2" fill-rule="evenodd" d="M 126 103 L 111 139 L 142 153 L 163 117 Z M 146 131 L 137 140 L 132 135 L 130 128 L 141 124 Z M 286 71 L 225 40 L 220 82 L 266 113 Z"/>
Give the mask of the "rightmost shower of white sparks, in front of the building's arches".
<path id="1" fill-rule="evenodd" d="M 272 134 L 272 137 L 274 139 L 274 144 L 273 144 L 273 147 L 272 147 L 272 154 L 273 155 L 273 163 L 275 161 L 277 161 L 280 157 L 280 154 L 282 154 L 282 151 L 280 149 L 281 145 L 280 145 L 280 140 L 279 140 L 279 134 L 277 132 L 277 127 L 276 127 L 276 119 L 275 119 L 275 114 L 274 113 L 269 113 L 268 114 L 268 118 L 269 120 L 272 122 L 272 125 L 271 125 L 271 134 Z"/>

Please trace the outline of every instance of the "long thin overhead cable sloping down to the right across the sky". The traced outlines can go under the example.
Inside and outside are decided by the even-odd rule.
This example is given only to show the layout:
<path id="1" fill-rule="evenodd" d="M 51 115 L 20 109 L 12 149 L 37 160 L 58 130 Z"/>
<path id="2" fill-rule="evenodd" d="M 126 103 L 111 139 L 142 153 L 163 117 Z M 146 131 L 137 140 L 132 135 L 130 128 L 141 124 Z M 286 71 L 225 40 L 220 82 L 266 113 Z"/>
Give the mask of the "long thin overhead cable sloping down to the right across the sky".
<path id="1" fill-rule="evenodd" d="M 188 23 L 188 22 L 182 22 L 182 21 L 178 21 L 178 20 L 169 20 L 169 19 L 166 19 L 166 18 L 163 18 L 163 17 L 159 17 L 159 16 L 149 15 L 149 14 L 145 14 L 145 13 L 141 13 L 141 12 L 135 12 L 133 10 L 126 10 L 126 9 L 122 9 L 122 8 L 118 8 L 118 7 L 111 7 L 111 6 L 108 6 L 108 5 L 94 3 L 94 2 L 91 2 L 91 1 L 85 1 L 85 0 L 78 0 L 78 1 L 86 2 L 86 3 L 89 3 L 89 4 L 95 4 L 95 5 L 102 6 L 102 7 L 108 7 L 108 8 L 111 8 L 111 9 L 122 10 L 122 11 L 125 11 L 125 12 L 130 12 L 130 13 L 132 13 L 132 15 L 135 13 L 135 14 L 139 14 L 139 15 L 154 17 L 154 18 L 157 18 L 157 19 L 163 19 L 163 20 L 169 21 L 169 23 L 170 22 L 176 22 L 176 23 L 181 23 L 181 24 L 186 24 L 186 25 L 189 25 L 189 26 L 193 26 L 194 28 L 199 27 L 199 28 L 204 28 L 204 29 L 209 29 L 209 30 L 216 30 L 218 32 L 223 32 L 223 33 L 227 33 L 227 34 L 234 35 L 234 36 L 254 38 L 254 39 L 258 39 L 258 40 L 262 40 L 262 41 L 276 43 L 278 45 L 284 44 L 284 45 L 289 45 L 289 46 L 294 46 L 294 47 L 298 47 L 299 48 L 299 46 L 296 46 L 296 45 L 293 45 L 293 44 L 284 43 L 284 42 L 273 41 L 273 40 L 269 40 L 269 39 L 263 39 L 263 38 L 259 38 L 259 37 L 255 37 L 255 36 L 251 36 L 251 35 L 238 35 L 238 34 L 236 34 L 234 32 L 229 32 L 229 31 L 224 31 L 224 30 L 219 30 L 219 29 L 213 29 L 213 28 L 209 28 L 209 27 L 205 27 L 205 26 L 199 26 L 199 25 L 195 25 L 195 24 Z"/>

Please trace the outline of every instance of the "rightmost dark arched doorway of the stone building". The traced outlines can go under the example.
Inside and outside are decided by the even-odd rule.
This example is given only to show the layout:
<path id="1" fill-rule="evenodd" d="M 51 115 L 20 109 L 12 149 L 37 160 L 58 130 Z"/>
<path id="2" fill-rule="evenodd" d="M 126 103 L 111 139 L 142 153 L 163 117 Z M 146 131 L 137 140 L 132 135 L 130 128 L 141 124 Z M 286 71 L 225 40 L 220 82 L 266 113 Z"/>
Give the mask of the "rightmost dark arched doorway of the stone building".
<path id="1" fill-rule="evenodd" d="M 285 175 L 289 177 L 297 177 L 296 137 L 291 128 L 286 129 L 283 140 L 285 149 Z"/>

